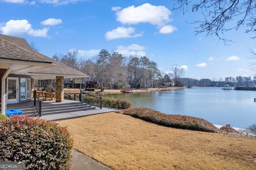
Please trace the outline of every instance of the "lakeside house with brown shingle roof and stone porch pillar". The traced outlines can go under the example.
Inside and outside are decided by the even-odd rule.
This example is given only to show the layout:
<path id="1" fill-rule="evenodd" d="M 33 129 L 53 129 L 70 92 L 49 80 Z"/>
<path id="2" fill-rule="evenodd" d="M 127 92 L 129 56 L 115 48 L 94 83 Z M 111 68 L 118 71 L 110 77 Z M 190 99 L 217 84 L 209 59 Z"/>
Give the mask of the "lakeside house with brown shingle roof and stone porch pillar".
<path id="1" fill-rule="evenodd" d="M 1 113 L 7 104 L 31 100 L 34 81 L 56 79 L 56 102 L 64 100 L 64 78 L 88 77 L 33 51 L 26 39 L 0 34 Z"/>

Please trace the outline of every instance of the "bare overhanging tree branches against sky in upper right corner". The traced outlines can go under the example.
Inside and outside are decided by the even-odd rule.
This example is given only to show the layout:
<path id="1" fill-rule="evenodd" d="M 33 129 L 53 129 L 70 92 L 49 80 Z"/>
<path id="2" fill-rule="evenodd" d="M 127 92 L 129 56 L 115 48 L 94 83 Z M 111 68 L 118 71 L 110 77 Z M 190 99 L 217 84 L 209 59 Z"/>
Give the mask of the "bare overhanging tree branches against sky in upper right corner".
<path id="1" fill-rule="evenodd" d="M 206 36 L 214 35 L 227 43 L 232 40 L 225 38 L 226 31 L 238 30 L 241 26 L 246 26 L 245 33 L 256 33 L 256 2 L 254 0 L 200 0 L 198 2 L 171 0 L 171 2 L 174 2 L 172 11 L 182 10 L 186 13 L 191 7 L 192 12 L 202 12 L 204 20 L 193 22 L 199 24 L 196 27 L 196 35 L 199 33 L 206 33 Z M 236 24 L 228 26 L 233 20 Z"/>

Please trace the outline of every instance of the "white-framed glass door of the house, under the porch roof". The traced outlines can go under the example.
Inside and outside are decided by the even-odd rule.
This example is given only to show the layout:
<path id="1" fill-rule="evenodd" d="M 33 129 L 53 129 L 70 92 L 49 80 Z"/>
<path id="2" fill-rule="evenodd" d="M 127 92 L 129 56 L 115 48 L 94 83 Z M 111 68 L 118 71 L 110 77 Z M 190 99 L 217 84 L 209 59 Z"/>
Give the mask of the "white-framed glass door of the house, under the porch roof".
<path id="1" fill-rule="evenodd" d="M 18 103 L 19 78 L 7 77 L 7 104 Z"/>

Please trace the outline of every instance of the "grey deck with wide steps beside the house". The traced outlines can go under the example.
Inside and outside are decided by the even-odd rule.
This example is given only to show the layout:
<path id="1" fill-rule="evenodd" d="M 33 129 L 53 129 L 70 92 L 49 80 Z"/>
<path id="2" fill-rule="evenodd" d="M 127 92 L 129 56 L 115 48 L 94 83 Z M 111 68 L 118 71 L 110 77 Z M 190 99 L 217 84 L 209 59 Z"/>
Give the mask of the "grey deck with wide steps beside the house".
<path id="1" fill-rule="evenodd" d="M 23 111 L 22 115 L 39 117 L 36 107 L 34 106 L 34 100 L 20 104 L 8 104 L 7 109 L 20 109 Z M 73 100 L 64 100 L 64 102 L 42 101 L 41 118 L 56 121 L 107 113 L 116 110 L 118 109 L 112 107 L 102 107 L 102 109 L 100 109 L 99 107 L 94 107 L 83 102 Z"/>

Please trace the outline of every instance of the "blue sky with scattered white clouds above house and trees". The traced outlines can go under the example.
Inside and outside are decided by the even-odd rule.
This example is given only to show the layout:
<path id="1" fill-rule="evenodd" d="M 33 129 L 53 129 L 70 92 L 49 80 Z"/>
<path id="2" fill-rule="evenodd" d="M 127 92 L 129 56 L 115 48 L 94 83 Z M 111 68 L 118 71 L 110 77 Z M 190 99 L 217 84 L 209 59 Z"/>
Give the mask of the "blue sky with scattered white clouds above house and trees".
<path id="1" fill-rule="evenodd" d="M 168 73 L 184 68 L 184 77 L 255 76 L 255 35 L 226 32 L 235 43 L 224 45 L 204 33 L 194 35 L 200 12 L 170 12 L 169 0 L 0 0 L 0 33 L 34 42 L 52 57 L 79 51 L 78 59 L 92 59 L 101 49 L 123 56 L 146 56 Z M 187 22 L 186 22 L 187 21 Z M 235 21 L 233 21 L 235 22 Z M 232 25 L 232 23 L 229 23 Z"/>

